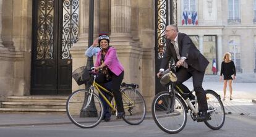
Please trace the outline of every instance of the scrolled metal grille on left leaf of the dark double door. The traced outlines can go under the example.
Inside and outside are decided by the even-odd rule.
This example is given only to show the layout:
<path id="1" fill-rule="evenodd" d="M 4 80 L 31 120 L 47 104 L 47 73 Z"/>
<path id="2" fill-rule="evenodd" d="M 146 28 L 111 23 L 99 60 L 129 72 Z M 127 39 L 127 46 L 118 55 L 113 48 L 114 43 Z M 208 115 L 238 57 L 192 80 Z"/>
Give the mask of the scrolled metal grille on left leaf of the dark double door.
<path id="1" fill-rule="evenodd" d="M 54 0 L 40 0 L 36 28 L 36 59 L 53 59 Z"/>

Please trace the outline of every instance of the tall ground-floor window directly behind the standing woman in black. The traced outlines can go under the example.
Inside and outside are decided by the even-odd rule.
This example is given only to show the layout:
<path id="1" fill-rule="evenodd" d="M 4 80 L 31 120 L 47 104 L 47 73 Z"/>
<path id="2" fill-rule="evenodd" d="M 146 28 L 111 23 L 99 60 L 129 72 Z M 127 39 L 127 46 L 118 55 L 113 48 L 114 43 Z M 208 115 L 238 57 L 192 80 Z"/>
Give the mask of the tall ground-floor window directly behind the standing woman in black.
<path id="1" fill-rule="evenodd" d="M 229 36 L 228 44 L 231 60 L 233 60 L 236 65 L 236 72 L 242 73 L 240 36 Z"/>

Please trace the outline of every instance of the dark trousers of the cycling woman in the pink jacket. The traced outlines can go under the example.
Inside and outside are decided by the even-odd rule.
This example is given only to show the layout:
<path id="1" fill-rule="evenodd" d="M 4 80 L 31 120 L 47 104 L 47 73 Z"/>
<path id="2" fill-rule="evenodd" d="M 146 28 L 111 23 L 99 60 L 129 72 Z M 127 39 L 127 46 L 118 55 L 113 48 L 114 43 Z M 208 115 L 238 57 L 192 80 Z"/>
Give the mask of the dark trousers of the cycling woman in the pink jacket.
<path id="1" fill-rule="evenodd" d="M 122 94 L 120 92 L 120 86 L 122 84 L 122 79 L 124 79 L 124 72 L 122 72 L 120 75 L 115 75 L 114 73 L 110 73 L 111 75 L 111 81 L 112 81 L 112 89 L 114 94 L 114 100 L 116 101 L 117 105 L 117 111 L 118 112 L 124 112 L 124 106 L 122 104 Z M 101 86 L 104 86 L 105 83 L 109 82 L 106 80 L 105 75 L 100 73 L 96 77 L 96 83 L 98 83 Z"/>

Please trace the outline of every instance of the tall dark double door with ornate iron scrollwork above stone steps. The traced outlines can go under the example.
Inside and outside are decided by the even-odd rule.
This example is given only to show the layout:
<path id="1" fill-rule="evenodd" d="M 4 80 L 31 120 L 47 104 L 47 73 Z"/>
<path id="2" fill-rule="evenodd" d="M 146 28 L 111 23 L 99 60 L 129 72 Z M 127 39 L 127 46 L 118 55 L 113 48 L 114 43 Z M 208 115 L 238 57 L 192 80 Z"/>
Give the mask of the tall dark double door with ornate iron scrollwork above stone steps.
<path id="1" fill-rule="evenodd" d="M 79 0 L 33 0 L 31 94 L 71 93 Z"/>

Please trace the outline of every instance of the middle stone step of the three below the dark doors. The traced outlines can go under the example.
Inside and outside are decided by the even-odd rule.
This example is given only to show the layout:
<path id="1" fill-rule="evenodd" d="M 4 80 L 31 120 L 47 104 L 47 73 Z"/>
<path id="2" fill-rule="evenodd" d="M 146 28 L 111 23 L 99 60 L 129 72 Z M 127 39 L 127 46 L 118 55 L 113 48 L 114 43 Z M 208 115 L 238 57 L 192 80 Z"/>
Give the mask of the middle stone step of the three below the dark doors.
<path id="1" fill-rule="evenodd" d="M 66 109 L 66 102 L 2 102 L 2 108 Z"/>

